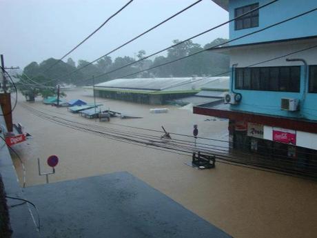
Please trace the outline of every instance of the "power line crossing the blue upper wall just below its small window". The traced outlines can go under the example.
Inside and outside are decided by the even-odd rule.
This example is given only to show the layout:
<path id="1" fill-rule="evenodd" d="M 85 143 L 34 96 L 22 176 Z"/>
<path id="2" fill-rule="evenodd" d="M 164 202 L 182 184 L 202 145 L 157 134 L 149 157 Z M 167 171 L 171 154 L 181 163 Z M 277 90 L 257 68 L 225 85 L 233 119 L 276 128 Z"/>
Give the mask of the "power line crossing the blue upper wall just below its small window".
<path id="1" fill-rule="evenodd" d="M 188 54 L 188 55 L 186 55 L 185 57 L 181 57 L 181 58 L 178 58 L 178 59 L 174 59 L 174 60 L 172 60 L 172 61 L 168 61 L 168 62 L 165 62 L 165 63 L 161 63 L 161 64 L 159 64 L 159 65 L 157 65 L 157 66 L 152 66 L 152 67 L 150 67 L 150 68 L 146 68 L 145 70 L 139 70 L 138 72 L 133 72 L 133 73 L 130 73 L 130 74 L 128 74 L 128 75 L 124 75 L 124 76 L 121 76 L 121 77 L 116 77 L 116 78 L 114 78 L 114 79 L 121 79 L 121 78 L 125 78 L 125 77 L 130 77 L 130 76 L 132 76 L 132 75 L 137 75 L 137 74 L 139 74 L 139 73 L 141 73 L 141 72 L 145 72 L 145 71 L 147 71 L 147 70 L 152 70 L 152 69 L 154 69 L 154 68 L 159 68 L 159 67 L 161 67 L 161 66 L 165 66 L 165 65 L 167 65 L 167 64 L 174 63 L 174 62 L 180 61 L 180 60 L 182 60 L 182 59 L 187 59 L 187 58 L 189 58 L 189 57 L 192 57 L 192 56 L 194 56 L 194 55 L 196 55 L 196 54 L 200 54 L 200 53 L 205 52 L 205 51 L 207 51 L 207 50 L 213 50 L 213 49 L 215 49 L 215 48 L 218 48 L 219 46 L 223 46 L 223 45 L 225 45 L 225 44 L 227 44 L 227 43 L 230 43 L 230 42 L 232 42 L 232 41 L 236 41 L 236 40 L 238 40 L 238 39 L 243 39 L 243 38 L 248 37 L 248 36 L 250 36 L 250 35 L 252 35 L 252 34 L 256 34 L 256 33 L 258 33 L 258 32 L 262 32 L 263 30 L 267 30 L 267 29 L 269 29 L 269 28 L 273 28 L 274 26 L 278 26 L 278 25 L 280 25 L 280 24 L 282 24 L 282 23 L 285 23 L 285 22 L 287 22 L 287 21 L 292 21 L 292 20 L 294 20 L 294 19 L 296 19 L 296 18 L 298 18 L 298 17 L 303 17 L 305 14 L 309 14 L 309 13 L 314 12 L 314 11 L 316 11 L 316 10 L 317 10 L 317 8 L 314 8 L 314 9 L 309 10 L 309 11 L 307 11 L 307 12 L 303 12 L 303 13 L 301 13 L 301 14 L 298 14 L 298 15 L 296 15 L 295 17 L 290 17 L 290 18 L 285 19 L 285 20 L 283 20 L 283 21 L 279 21 L 278 23 L 274 23 L 274 24 L 272 24 L 272 25 L 270 25 L 270 26 L 267 26 L 267 27 L 262 28 L 262 29 L 260 29 L 260 30 L 256 30 L 256 31 L 254 31 L 254 32 L 250 32 L 250 33 L 248 33 L 248 34 L 244 34 L 244 35 L 241 36 L 241 37 L 236 37 L 236 38 L 231 39 L 231 40 L 229 40 L 229 41 L 225 41 L 224 43 L 220 43 L 220 44 L 218 44 L 218 45 L 216 45 L 216 46 L 212 46 L 212 47 L 207 48 L 207 49 L 199 50 L 199 51 L 194 52 L 194 53 L 192 53 L 192 54 Z M 103 74 L 97 75 L 97 76 L 95 76 L 95 78 L 98 78 L 98 77 L 101 77 L 101 76 L 103 76 Z M 88 81 L 88 80 L 90 80 L 90 79 L 85 79 L 85 80 L 83 80 L 83 81 Z"/>

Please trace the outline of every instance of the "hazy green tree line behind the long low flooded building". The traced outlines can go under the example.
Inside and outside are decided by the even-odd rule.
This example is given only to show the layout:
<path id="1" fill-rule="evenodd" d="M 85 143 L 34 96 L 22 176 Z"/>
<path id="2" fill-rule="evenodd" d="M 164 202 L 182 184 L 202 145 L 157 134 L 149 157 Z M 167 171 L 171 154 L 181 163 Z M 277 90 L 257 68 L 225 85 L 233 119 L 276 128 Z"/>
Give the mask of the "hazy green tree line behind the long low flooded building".
<path id="1" fill-rule="evenodd" d="M 153 66 L 159 66 L 161 63 L 172 61 L 180 57 L 185 57 L 194 52 L 210 48 L 219 43 L 224 43 L 226 39 L 218 38 L 214 41 L 207 43 L 205 46 L 201 46 L 198 43 L 193 43 L 192 41 L 186 41 L 178 46 L 174 46 L 167 50 L 166 56 L 158 56 L 153 59 L 145 59 L 132 66 L 127 66 L 121 70 L 116 70 L 109 74 L 105 74 L 101 77 L 96 77 L 102 75 L 106 72 L 115 70 L 128 63 L 133 63 L 136 60 L 146 57 L 145 50 L 139 50 L 136 54 L 136 58 L 132 57 L 116 57 L 112 59 L 111 57 L 103 57 L 96 61 L 96 63 L 89 64 L 88 61 L 80 59 L 77 63 L 72 58 L 68 58 L 66 62 L 58 61 L 58 59 L 46 59 L 41 63 L 32 62 L 28 66 L 25 66 L 23 73 L 25 75 L 19 75 L 21 79 L 21 85 L 19 88 L 24 88 L 24 90 L 30 90 L 31 86 L 26 86 L 28 83 L 33 84 L 32 81 L 26 77 L 26 75 L 32 80 L 39 83 L 45 83 L 48 86 L 56 86 L 61 83 L 72 83 L 76 86 L 91 85 L 92 77 L 95 76 L 95 83 L 108 81 L 115 78 L 120 78 L 125 75 L 132 74 L 134 72 L 139 72 L 140 70 L 145 70 L 139 74 L 133 75 L 130 78 L 136 77 L 192 77 L 196 76 L 212 76 L 219 74 L 221 72 L 226 72 L 229 69 L 229 57 L 225 54 L 218 54 L 212 51 L 205 51 L 200 54 L 196 54 L 192 57 L 176 61 L 174 63 L 167 64 L 152 70 L 146 70 L 147 68 Z M 172 41 L 174 45 L 179 43 L 178 39 Z M 89 65 L 88 65 L 89 64 Z M 54 65 L 54 66 L 53 66 Z M 88 66 L 86 66 L 88 65 Z M 53 66 L 53 67 L 52 67 Z M 86 66 L 82 70 L 75 70 Z M 23 84 L 22 84 L 23 82 Z M 41 93 L 44 89 L 33 87 L 32 90 L 37 92 L 37 95 L 43 95 Z M 47 91 L 47 89 L 45 89 Z M 50 91 L 50 90 L 49 90 Z M 45 95 L 50 93 L 45 92 Z"/>

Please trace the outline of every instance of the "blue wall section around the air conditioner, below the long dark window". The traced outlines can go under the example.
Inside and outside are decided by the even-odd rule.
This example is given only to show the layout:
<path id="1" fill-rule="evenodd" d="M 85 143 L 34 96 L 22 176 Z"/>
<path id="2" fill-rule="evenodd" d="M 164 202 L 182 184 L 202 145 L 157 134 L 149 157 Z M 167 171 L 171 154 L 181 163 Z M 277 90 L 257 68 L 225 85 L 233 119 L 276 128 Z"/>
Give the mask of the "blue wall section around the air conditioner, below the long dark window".
<path id="1" fill-rule="evenodd" d="M 305 67 L 301 66 L 300 92 L 272 92 L 256 90 L 234 90 L 243 96 L 240 103 L 230 106 L 232 110 L 242 110 L 247 112 L 256 112 L 265 115 L 276 115 L 282 117 L 292 117 L 298 119 L 317 120 L 317 93 L 307 93 L 307 86 L 304 90 Z M 234 83 L 235 85 L 235 83 Z M 303 93 L 306 99 L 301 100 Z M 300 99 L 300 110 L 289 112 L 280 110 L 280 99 L 283 97 Z"/>

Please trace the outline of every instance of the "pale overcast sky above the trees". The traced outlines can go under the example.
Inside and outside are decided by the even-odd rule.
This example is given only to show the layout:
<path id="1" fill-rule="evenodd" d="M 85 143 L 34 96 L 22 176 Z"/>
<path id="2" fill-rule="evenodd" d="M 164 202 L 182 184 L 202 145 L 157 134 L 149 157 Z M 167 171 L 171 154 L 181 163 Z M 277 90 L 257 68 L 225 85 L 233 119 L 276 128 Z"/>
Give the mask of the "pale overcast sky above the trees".
<path id="1" fill-rule="evenodd" d="M 32 61 L 61 58 L 127 1 L 0 0 L 0 53 L 4 54 L 5 65 L 23 68 Z M 69 57 L 92 61 L 195 1 L 134 0 Z M 187 39 L 227 19 L 225 10 L 211 0 L 203 0 L 110 56 L 134 57 L 139 50 L 151 54 L 170 46 L 173 39 Z M 193 41 L 205 45 L 218 37 L 228 37 L 228 26 Z"/>

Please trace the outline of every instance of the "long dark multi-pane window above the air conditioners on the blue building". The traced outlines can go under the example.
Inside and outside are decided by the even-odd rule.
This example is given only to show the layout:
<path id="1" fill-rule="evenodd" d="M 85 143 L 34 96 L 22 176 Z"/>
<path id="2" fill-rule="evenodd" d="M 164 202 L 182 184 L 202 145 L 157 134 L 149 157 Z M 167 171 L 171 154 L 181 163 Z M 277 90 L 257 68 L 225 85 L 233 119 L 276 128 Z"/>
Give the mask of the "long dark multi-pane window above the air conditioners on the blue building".
<path id="1" fill-rule="evenodd" d="M 236 68 L 236 89 L 280 92 L 299 92 L 300 66 Z M 317 92 L 317 66 L 314 74 L 314 90 Z M 310 87 L 311 83 L 309 84 Z"/>

